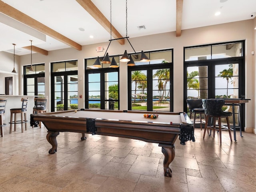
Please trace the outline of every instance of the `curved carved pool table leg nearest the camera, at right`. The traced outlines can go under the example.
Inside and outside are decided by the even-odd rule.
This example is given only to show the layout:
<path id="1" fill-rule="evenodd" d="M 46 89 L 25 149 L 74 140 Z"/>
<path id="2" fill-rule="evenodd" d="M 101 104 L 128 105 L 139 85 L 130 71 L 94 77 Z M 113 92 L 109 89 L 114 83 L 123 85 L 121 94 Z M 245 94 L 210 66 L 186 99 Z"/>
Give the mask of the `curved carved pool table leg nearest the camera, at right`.
<path id="1" fill-rule="evenodd" d="M 174 145 L 166 146 L 166 145 L 158 145 L 162 147 L 162 153 L 164 154 L 164 176 L 172 177 L 172 170 L 169 165 L 174 160 L 175 156 L 175 148 Z"/>

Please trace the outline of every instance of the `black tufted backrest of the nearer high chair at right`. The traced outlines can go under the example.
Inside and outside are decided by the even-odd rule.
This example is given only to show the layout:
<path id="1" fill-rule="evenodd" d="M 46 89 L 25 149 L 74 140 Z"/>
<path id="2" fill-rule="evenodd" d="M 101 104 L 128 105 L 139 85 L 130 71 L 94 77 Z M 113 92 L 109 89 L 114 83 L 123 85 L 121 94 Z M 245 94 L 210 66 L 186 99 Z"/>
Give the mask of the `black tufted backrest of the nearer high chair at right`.
<path id="1" fill-rule="evenodd" d="M 204 106 L 204 113 L 210 116 L 226 116 L 227 114 L 222 110 L 225 104 L 224 99 L 202 99 Z"/>

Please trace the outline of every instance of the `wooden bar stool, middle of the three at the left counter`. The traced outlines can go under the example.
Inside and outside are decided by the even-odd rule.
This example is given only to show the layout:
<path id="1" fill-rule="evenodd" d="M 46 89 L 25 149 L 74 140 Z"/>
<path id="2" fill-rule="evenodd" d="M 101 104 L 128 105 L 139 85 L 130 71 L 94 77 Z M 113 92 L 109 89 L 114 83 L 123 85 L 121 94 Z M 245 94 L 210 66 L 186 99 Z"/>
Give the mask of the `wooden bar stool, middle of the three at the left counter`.
<path id="1" fill-rule="evenodd" d="M 12 133 L 12 124 L 14 124 L 14 131 L 16 131 L 16 124 L 21 123 L 21 132 L 23 133 L 23 124 L 25 124 L 25 130 L 27 130 L 27 104 L 28 98 L 21 98 L 22 106 L 21 108 L 12 108 L 10 109 L 11 118 L 10 118 L 10 134 Z M 12 120 L 12 115 L 14 114 L 14 121 Z M 17 121 L 16 114 L 21 114 L 21 120 Z M 24 118 L 23 118 L 24 117 Z"/>

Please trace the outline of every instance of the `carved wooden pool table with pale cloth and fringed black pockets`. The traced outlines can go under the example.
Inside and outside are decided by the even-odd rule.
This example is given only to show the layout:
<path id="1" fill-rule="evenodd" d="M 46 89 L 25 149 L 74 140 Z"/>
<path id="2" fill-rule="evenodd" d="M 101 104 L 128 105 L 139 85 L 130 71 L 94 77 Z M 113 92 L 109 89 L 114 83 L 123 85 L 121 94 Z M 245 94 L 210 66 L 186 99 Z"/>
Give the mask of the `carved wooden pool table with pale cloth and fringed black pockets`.
<path id="1" fill-rule="evenodd" d="M 157 113 L 157 118 L 145 118 L 144 114 Z M 164 176 L 171 177 L 170 163 L 175 156 L 174 142 L 194 141 L 194 128 L 186 113 L 146 112 L 119 110 L 68 110 L 31 114 L 33 121 L 41 121 L 48 130 L 46 136 L 52 145 L 50 154 L 57 152 L 59 132 L 80 132 L 81 140 L 85 133 L 116 136 L 158 143 L 164 154 Z"/>

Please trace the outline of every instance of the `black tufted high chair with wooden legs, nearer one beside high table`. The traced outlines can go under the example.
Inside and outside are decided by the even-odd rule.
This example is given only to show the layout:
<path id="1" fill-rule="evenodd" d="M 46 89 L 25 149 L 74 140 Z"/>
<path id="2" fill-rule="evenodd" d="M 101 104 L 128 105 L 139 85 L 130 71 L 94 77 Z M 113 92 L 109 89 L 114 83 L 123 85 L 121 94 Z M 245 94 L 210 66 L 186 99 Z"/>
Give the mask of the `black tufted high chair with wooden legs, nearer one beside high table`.
<path id="1" fill-rule="evenodd" d="M 232 141 L 230 123 L 228 120 L 228 117 L 232 116 L 232 113 L 225 112 L 222 110 L 222 106 L 224 106 L 225 104 L 224 99 L 203 99 L 202 102 L 204 106 L 204 112 L 206 115 L 206 121 L 204 126 L 204 136 L 205 136 L 206 130 L 208 131 L 208 129 L 210 129 L 210 130 L 213 130 L 213 137 L 215 137 L 215 130 L 217 130 L 219 132 L 220 144 L 221 144 L 222 143 L 221 132 L 223 130 L 228 130 L 230 141 Z M 210 118 L 212 118 L 212 124 L 209 123 Z M 218 125 L 216 125 L 217 118 L 218 118 Z M 226 118 L 227 126 L 222 125 L 221 123 L 222 118 Z"/>

